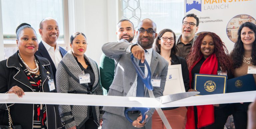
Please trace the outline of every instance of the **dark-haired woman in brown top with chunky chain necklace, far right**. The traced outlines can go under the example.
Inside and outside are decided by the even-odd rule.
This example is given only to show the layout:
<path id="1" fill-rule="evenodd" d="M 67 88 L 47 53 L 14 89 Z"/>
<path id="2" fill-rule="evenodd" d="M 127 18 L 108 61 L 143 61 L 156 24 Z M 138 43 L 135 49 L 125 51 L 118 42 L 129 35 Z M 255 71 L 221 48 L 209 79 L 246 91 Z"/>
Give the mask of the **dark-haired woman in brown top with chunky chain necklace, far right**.
<path id="1" fill-rule="evenodd" d="M 248 66 L 256 65 L 256 25 L 251 22 L 242 24 L 230 57 L 234 63 L 234 76 L 247 74 Z M 253 74 L 256 82 L 256 74 Z"/>

